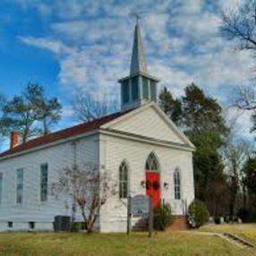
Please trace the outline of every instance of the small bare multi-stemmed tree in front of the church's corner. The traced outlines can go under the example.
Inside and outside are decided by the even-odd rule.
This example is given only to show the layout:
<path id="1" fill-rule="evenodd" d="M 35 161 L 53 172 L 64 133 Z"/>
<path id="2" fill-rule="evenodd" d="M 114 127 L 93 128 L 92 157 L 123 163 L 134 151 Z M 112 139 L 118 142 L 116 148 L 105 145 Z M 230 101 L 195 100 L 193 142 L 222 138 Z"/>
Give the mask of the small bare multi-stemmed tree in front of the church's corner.
<path id="1" fill-rule="evenodd" d="M 57 182 L 52 183 L 52 192 L 56 196 L 63 194 L 73 199 L 91 233 L 99 210 L 108 198 L 115 195 L 115 187 L 107 172 L 100 174 L 97 166 L 73 166 L 64 168 Z"/>

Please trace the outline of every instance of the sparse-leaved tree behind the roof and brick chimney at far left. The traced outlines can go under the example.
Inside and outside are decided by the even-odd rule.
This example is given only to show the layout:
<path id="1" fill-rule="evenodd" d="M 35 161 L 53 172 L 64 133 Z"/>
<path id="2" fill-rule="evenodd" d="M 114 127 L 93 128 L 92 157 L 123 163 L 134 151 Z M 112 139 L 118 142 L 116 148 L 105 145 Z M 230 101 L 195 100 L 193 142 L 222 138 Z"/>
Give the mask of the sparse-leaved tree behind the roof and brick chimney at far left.
<path id="1" fill-rule="evenodd" d="M 7 100 L 2 111 L 0 124 L 4 135 L 17 131 L 25 142 L 31 136 L 49 132 L 50 125 L 60 119 L 61 105 L 57 98 L 48 99 L 42 86 L 30 83 L 20 96 Z"/>

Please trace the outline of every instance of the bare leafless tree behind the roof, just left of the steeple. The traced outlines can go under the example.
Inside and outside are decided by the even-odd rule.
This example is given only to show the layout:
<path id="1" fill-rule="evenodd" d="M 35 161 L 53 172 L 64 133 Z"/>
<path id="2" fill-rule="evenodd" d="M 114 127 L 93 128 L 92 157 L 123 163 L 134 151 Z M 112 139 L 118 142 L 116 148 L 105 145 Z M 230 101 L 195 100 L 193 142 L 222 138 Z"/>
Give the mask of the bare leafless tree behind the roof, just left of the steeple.
<path id="1" fill-rule="evenodd" d="M 95 98 L 89 93 L 79 93 L 73 103 L 74 113 L 81 122 L 97 119 L 115 112 L 116 109 L 116 100 L 111 100 L 106 94 L 102 98 Z"/>

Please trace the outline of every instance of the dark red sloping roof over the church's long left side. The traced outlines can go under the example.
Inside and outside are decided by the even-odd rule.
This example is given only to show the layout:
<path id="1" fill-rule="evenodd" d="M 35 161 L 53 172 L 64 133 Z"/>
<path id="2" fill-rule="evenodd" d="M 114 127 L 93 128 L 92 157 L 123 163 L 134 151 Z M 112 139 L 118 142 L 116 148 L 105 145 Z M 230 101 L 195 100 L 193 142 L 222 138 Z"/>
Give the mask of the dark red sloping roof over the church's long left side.
<path id="1" fill-rule="evenodd" d="M 90 121 L 88 123 L 78 124 L 70 128 L 66 128 L 64 130 L 60 130 L 57 132 L 51 132 L 47 135 L 40 136 L 36 139 L 32 139 L 30 141 L 27 141 L 23 144 L 20 144 L 13 149 L 8 149 L 2 153 L 0 153 L 0 158 L 6 157 L 9 155 L 13 155 L 15 153 L 20 153 L 22 151 L 28 150 L 28 149 L 35 149 L 39 146 L 48 144 L 50 142 L 54 141 L 60 141 L 69 137 L 73 137 L 79 134 L 82 134 L 84 132 L 90 132 L 93 130 L 98 129 L 101 125 L 107 124 L 110 121 L 113 121 L 115 118 L 125 115 L 127 112 L 116 112 L 112 115 L 106 115 L 103 117 L 100 117 L 96 120 Z"/>

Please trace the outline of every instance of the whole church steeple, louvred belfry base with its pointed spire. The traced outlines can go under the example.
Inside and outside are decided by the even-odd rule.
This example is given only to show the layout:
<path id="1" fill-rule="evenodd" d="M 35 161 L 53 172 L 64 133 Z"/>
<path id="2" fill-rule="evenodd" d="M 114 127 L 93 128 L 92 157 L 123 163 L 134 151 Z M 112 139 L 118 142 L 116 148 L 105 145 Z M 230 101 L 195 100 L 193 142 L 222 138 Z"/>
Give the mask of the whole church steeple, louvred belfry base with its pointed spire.
<path id="1" fill-rule="evenodd" d="M 148 73 L 138 20 L 134 30 L 130 75 L 120 79 L 119 82 L 122 110 L 141 107 L 151 100 L 157 101 L 158 79 Z"/>

